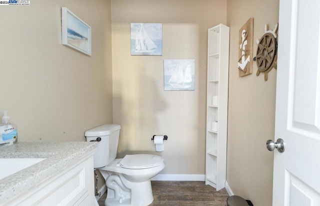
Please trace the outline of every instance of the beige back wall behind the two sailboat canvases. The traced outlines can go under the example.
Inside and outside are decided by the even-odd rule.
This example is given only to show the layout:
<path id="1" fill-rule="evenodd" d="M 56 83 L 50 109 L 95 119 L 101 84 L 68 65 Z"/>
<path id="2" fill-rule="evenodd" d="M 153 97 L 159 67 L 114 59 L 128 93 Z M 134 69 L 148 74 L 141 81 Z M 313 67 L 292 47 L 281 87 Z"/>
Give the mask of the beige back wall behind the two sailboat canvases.
<path id="1" fill-rule="evenodd" d="M 118 156 L 152 153 L 164 134 L 162 174 L 204 174 L 207 28 L 226 23 L 226 1 L 112 0 L 113 122 Z M 131 56 L 130 23 L 162 23 L 163 55 Z M 194 91 L 163 91 L 163 59 L 195 59 Z"/>

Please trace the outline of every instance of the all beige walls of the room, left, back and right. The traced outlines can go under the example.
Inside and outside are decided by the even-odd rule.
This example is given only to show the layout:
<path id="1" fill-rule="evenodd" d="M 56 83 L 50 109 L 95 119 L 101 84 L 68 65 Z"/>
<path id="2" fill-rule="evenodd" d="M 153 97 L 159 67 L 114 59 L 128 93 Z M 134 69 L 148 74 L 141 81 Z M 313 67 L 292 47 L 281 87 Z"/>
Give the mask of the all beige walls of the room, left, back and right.
<path id="1" fill-rule="evenodd" d="M 61 6 L 92 27 L 91 57 L 61 45 Z M 19 141 L 84 141 L 86 129 L 113 121 L 122 127 L 118 156 L 154 151 L 151 136 L 166 134 L 158 153 L 165 158 L 162 173 L 204 174 L 207 28 L 226 23 L 227 181 L 254 205 L 271 205 L 273 153 L 264 145 L 274 133 L 276 71 L 267 82 L 255 76 L 255 65 L 253 74 L 238 77 L 238 30 L 249 17 L 255 40 L 264 23 L 272 28 L 277 22 L 278 0 L 32 0 L 29 6 L 1 6 L 0 109 L 18 124 Z M 131 22 L 163 23 L 162 56 L 130 56 Z M 163 59 L 170 58 L 195 59 L 195 91 L 163 91 Z"/>

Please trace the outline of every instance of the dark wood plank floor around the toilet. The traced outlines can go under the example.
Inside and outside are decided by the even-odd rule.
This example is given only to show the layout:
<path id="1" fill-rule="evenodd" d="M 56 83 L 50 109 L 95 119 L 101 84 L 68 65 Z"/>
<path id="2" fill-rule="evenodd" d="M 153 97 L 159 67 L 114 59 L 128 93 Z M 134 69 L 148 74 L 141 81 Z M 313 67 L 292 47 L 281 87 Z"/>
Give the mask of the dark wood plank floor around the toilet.
<path id="1" fill-rule="evenodd" d="M 226 206 L 225 189 L 218 192 L 204 182 L 151 181 L 154 201 L 150 206 Z M 104 206 L 106 194 L 99 199 Z"/>

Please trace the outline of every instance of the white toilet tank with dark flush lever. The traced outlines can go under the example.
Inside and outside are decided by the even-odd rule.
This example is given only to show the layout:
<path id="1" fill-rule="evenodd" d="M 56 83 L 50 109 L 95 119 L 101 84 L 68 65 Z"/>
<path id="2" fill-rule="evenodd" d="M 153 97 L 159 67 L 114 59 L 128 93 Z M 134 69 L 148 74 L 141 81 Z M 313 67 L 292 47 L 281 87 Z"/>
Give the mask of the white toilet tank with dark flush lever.
<path id="1" fill-rule="evenodd" d="M 104 124 L 84 132 L 87 142 L 101 138 L 93 156 L 94 168 L 104 167 L 115 159 L 119 133 L 120 125 L 116 124 Z"/>

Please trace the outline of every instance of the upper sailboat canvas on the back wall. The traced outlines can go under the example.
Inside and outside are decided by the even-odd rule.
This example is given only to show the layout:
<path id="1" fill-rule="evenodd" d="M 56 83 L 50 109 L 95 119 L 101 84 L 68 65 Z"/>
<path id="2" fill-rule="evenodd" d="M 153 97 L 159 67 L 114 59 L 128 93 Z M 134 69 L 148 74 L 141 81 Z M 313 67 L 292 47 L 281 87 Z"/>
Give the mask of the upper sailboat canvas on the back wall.
<path id="1" fill-rule="evenodd" d="M 162 23 L 131 23 L 131 55 L 162 55 Z"/>

